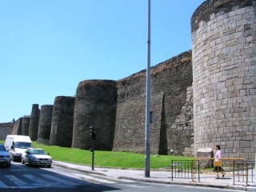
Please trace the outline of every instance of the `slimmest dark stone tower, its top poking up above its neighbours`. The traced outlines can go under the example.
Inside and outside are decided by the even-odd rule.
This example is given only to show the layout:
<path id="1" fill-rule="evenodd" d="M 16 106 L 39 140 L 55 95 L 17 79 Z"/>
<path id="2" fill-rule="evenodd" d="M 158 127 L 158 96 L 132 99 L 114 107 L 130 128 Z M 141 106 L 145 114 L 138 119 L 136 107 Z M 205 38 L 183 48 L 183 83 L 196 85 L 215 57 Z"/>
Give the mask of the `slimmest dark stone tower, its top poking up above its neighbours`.
<path id="1" fill-rule="evenodd" d="M 29 136 L 32 141 L 36 141 L 38 139 L 39 114 L 40 110 L 38 104 L 33 104 L 29 126 Z"/>

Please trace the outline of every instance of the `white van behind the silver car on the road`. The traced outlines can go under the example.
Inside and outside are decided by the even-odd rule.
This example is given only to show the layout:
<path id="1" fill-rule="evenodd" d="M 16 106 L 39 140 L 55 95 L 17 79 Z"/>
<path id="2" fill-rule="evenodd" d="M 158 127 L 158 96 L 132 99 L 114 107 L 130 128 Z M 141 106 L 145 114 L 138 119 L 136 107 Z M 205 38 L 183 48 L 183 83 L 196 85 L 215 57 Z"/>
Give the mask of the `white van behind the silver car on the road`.
<path id="1" fill-rule="evenodd" d="M 8 134 L 6 136 L 5 146 L 13 162 L 16 160 L 21 161 L 22 153 L 32 147 L 32 142 L 29 136 Z"/>

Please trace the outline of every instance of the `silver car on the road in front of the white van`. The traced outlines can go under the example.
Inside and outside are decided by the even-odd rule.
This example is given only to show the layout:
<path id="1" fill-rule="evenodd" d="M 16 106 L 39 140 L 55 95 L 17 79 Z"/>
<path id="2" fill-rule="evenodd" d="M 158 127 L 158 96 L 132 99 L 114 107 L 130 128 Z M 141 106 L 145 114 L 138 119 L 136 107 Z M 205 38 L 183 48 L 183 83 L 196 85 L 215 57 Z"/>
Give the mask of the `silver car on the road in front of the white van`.
<path id="1" fill-rule="evenodd" d="M 28 163 L 29 166 L 47 166 L 50 167 L 52 158 L 46 154 L 45 150 L 29 148 L 22 153 L 22 164 Z"/>

